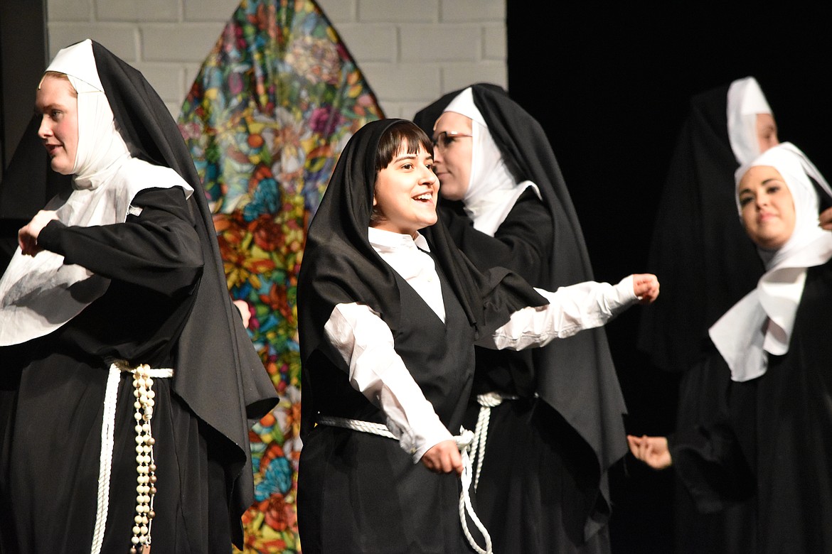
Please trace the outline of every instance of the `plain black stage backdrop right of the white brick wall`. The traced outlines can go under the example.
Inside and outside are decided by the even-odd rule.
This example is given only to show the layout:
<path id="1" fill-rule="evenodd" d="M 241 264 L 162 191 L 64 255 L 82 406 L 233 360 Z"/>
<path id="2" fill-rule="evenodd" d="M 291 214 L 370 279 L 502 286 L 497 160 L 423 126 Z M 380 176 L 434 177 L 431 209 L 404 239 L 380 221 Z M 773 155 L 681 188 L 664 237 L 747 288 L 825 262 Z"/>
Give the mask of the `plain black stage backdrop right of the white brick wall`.
<path id="1" fill-rule="evenodd" d="M 697 92 L 755 76 L 780 140 L 832 175 L 832 7 L 540 3 L 545 12 L 507 2 L 509 95 L 547 131 L 598 280 L 645 271 L 671 152 Z M 677 377 L 636 350 L 645 309 L 627 311 L 607 334 L 628 432 L 666 434 Z M 614 552 L 672 552 L 673 488 L 672 469 L 625 459 L 612 477 Z"/>

